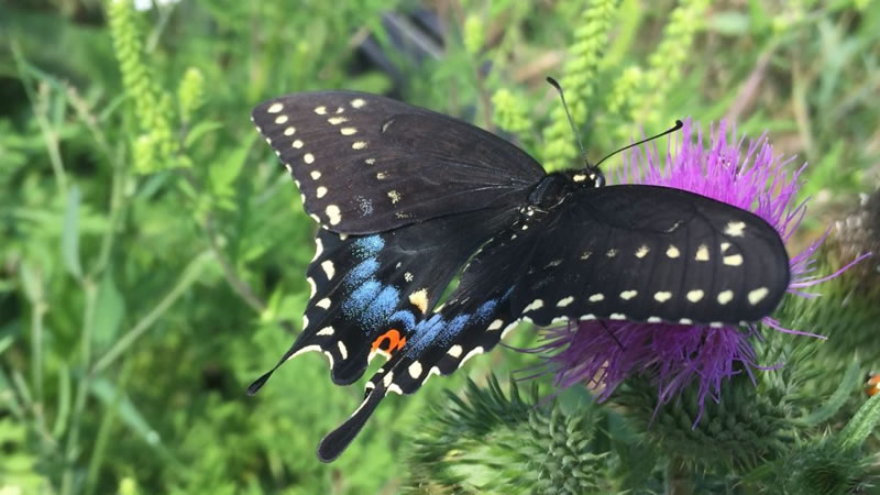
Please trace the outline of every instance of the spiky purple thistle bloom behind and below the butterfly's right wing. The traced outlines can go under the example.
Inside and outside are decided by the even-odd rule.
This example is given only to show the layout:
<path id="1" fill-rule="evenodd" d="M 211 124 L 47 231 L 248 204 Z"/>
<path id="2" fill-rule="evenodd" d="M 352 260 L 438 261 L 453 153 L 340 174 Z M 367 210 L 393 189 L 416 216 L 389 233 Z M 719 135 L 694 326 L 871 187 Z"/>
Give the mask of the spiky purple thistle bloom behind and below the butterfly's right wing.
<path id="1" fill-rule="evenodd" d="M 695 133 L 696 140 L 689 119 L 678 140 L 670 144 L 662 167 L 656 148 L 647 152 L 634 148 L 624 155 L 624 166 L 617 170 L 616 182 L 673 187 L 752 211 L 788 242 L 806 211 L 806 201 L 795 202 L 799 178 L 806 164 L 795 168 L 791 166 L 793 158 L 774 155 L 766 134 L 744 146 L 745 138 L 736 141 L 734 129 L 729 132 L 734 138 L 728 141 L 725 122 L 717 130 L 711 130 L 708 150 L 703 146 L 702 131 L 697 129 Z M 869 255 L 859 256 L 832 275 L 815 275 L 813 254 L 827 233 L 790 260 L 789 293 L 816 297 L 817 294 L 803 289 L 838 276 Z M 770 317 L 761 322 L 780 332 L 824 339 L 783 328 Z M 750 375 L 752 369 L 762 369 L 749 343 L 752 336 L 759 337 L 757 324 L 710 328 L 580 321 L 543 330 L 544 343 L 534 351 L 546 355 L 558 386 L 588 383 L 600 389 L 598 400 L 607 399 L 627 377 L 645 374 L 656 381 L 659 408 L 693 381 L 698 381 L 702 415 L 706 397 L 718 402 L 722 382 L 738 373 L 735 363 L 743 363 Z"/>

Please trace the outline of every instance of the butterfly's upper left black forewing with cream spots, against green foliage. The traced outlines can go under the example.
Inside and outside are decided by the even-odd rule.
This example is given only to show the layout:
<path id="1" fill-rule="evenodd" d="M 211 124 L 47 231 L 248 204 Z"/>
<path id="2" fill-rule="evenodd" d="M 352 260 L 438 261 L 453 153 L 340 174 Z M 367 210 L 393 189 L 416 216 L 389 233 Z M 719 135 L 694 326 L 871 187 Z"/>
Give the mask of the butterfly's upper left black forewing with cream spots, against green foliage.
<path id="1" fill-rule="evenodd" d="M 516 206 L 544 175 L 496 135 L 375 95 L 288 95 L 258 105 L 252 120 L 297 182 L 306 211 L 341 233 Z"/>

